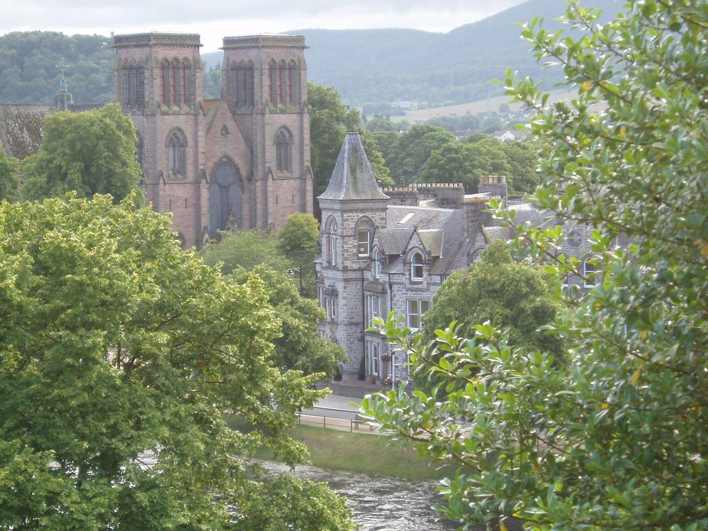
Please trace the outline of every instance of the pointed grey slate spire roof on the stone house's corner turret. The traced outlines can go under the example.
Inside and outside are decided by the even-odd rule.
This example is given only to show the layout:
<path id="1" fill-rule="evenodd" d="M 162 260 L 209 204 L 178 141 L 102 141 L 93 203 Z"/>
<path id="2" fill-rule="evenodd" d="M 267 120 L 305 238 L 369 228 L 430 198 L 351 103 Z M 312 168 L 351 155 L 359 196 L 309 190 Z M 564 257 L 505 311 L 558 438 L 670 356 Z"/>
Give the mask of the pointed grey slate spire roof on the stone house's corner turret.
<path id="1" fill-rule="evenodd" d="M 344 137 L 332 178 L 318 199 L 366 200 L 388 199 L 376 183 L 374 171 L 364 151 L 359 133 Z"/>

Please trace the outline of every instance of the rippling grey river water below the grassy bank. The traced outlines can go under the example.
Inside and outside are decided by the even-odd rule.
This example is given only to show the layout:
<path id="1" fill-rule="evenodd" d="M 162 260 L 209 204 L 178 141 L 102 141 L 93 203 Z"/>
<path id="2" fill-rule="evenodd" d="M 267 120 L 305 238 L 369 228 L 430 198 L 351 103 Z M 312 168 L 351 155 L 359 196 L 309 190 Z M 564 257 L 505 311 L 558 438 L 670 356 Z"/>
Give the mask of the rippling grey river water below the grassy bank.
<path id="1" fill-rule="evenodd" d="M 288 472 L 287 465 L 264 461 L 270 472 Z M 330 489 L 347 500 L 361 531 L 449 531 L 457 526 L 439 520 L 433 510 L 440 501 L 437 481 L 404 481 L 350 472 L 297 465 L 295 476 L 326 481 Z"/>

